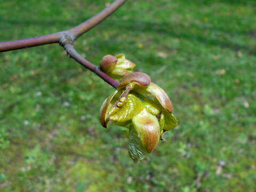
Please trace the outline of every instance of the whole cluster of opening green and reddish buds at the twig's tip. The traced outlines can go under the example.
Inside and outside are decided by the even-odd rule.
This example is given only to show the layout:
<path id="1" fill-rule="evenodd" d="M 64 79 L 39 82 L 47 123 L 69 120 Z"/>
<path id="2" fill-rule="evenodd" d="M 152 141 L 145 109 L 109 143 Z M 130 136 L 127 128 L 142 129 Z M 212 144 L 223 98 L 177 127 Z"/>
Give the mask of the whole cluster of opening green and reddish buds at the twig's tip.
<path id="1" fill-rule="evenodd" d="M 141 161 L 156 148 L 159 140 L 164 140 L 164 132 L 177 126 L 172 102 L 147 74 L 132 72 L 135 64 L 126 60 L 123 54 L 106 55 L 100 67 L 112 77 L 123 77 L 117 91 L 100 108 L 101 125 L 107 127 L 113 122 L 126 127 L 129 154 L 133 161 Z"/>

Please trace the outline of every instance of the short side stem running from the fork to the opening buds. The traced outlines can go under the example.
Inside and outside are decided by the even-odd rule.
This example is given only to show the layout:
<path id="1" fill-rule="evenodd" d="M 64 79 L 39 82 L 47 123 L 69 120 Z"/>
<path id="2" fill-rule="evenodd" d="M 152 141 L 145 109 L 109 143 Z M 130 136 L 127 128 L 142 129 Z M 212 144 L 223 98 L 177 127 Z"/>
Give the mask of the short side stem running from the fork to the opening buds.
<path id="1" fill-rule="evenodd" d="M 73 58 L 75 61 L 80 63 L 85 68 L 91 70 L 93 73 L 97 74 L 100 78 L 102 78 L 109 85 L 113 86 L 115 89 L 119 85 L 118 81 L 109 77 L 106 73 L 101 71 L 98 66 L 93 65 L 91 62 L 87 61 L 79 53 L 77 53 L 77 51 L 75 50 L 75 47 L 73 45 L 67 43 L 64 45 L 64 47 L 71 58 Z"/>

